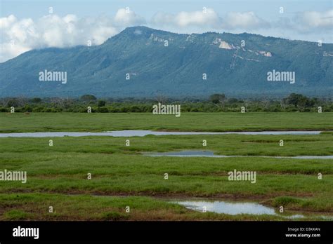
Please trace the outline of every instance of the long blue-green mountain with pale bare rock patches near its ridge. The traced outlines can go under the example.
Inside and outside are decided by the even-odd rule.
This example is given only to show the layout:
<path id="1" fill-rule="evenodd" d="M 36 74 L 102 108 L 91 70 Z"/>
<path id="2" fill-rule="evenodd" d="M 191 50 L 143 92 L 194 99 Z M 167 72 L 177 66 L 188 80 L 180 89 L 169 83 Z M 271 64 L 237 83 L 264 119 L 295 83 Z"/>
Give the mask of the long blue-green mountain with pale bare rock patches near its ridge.
<path id="1" fill-rule="evenodd" d="M 67 83 L 40 81 L 45 70 L 67 72 Z M 294 72 L 295 82 L 268 81 L 268 72 Z M 0 74 L 0 97 L 330 96 L 333 44 L 128 27 L 100 46 L 30 50 Z"/>

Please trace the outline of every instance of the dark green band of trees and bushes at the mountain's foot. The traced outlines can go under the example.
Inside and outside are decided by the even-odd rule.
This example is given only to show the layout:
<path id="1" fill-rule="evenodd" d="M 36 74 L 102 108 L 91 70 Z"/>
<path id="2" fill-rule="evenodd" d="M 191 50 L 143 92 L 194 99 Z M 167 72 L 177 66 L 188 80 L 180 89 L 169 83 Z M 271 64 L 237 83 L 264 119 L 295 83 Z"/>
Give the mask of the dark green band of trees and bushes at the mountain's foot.
<path id="1" fill-rule="evenodd" d="M 126 112 L 151 112 L 152 105 L 181 104 L 182 112 L 240 112 L 242 107 L 245 111 L 300 111 L 300 112 L 322 112 L 333 111 L 332 99 L 319 99 L 306 97 L 301 94 L 292 93 L 280 99 L 237 99 L 228 98 L 224 94 L 213 94 L 207 100 L 171 100 L 164 96 L 152 99 L 98 99 L 94 95 L 83 95 L 79 98 L 70 97 L 4 97 L 0 98 L 0 112 L 79 112 L 85 113 L 88 107 L 91 112 L 98 113 L 126 113 Z"/>

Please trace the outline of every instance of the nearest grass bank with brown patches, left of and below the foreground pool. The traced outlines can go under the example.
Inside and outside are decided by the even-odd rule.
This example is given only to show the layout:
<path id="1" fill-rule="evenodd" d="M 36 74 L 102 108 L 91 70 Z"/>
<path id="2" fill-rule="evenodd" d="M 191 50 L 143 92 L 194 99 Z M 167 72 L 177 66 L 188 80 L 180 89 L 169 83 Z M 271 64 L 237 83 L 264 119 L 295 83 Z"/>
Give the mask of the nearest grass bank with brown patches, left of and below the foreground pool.
<path id="1" fill-rule="evenodd" d="M 18 204 L 18 199 L 20 203 Z M 213 212 L 195 212 L 164 199 L 143 196 L 89 196 L 61 194 L 0 194 L 0 220 L 288 220 L 273 215 L 225 215 Z M 11 205 L 15 205 L 12 210 Z M 48 212 L 49 207 L 53 212 Z M 126 207 L 129 206 L 129 212 Z M 283 216 L 288 216 L 286 213 Z M 320 220 L 306 215 L 306 220 Z"/>

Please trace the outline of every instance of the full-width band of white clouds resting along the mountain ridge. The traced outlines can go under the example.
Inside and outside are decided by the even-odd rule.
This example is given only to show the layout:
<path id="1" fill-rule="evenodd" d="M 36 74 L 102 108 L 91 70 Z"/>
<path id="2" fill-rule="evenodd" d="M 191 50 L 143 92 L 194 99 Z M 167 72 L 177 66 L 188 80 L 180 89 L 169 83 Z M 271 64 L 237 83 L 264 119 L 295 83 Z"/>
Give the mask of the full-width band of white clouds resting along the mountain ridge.
<path id="1" fill-rule="evenodd" d="M 323 34 L 332 32 L 333 10 L 306 11 L 277 20 L 264 20 L 253 11 L 229 12 L 223 16 L 213 8 L 178 13 L 158 12 L 146 20 L 129 8 L 119 8 L 114 16 L 79 18 L 74 14 L 63 17 L 45 15 L 37 20 L 18 19 L 14 15 L 0 18 L 1 53 L 0 62 L 16 57 L 27 50 L 47 47 L 72 47 L 77 45 L 99 45 L 124 28 L 148 25 L 178 33 L 203 32 L 257 32 L 273 35 L 299 33 L 318 40 Z M 303 37 L 302 36 L 302 37 Z M 328 35 L 329 36 L 329 35 Z M 331 35 L 332 36 L 332 35 Z M 332 41 L 332 39 L 327 39 Z"/>

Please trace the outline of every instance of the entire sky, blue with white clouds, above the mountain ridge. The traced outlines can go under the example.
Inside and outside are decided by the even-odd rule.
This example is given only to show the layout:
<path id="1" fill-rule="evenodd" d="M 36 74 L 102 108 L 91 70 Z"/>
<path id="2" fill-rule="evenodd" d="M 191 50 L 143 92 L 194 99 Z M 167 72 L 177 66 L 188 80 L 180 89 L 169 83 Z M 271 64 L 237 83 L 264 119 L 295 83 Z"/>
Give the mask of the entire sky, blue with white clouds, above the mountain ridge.
<path id="1" fill-rule="evenodd" d="M 332 0 L 0 2 L 0 62 L 33 48 L 75 46 L 87 40 L 98 45 L 133 25 L 189 34 L 249 32 L 333 43 Z"/>

